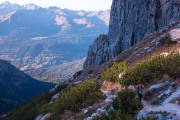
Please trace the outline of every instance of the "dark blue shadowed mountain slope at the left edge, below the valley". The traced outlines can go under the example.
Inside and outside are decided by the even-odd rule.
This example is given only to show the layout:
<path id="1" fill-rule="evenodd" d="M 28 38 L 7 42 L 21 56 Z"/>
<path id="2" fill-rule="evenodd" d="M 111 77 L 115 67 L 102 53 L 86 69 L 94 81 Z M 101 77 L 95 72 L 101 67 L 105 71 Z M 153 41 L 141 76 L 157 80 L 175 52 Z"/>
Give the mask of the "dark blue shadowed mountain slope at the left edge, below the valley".
<path id="1" fill-rule="evenodd" d="M 0 115 L 55 85 L 33 79 L 0 59 Z"/>

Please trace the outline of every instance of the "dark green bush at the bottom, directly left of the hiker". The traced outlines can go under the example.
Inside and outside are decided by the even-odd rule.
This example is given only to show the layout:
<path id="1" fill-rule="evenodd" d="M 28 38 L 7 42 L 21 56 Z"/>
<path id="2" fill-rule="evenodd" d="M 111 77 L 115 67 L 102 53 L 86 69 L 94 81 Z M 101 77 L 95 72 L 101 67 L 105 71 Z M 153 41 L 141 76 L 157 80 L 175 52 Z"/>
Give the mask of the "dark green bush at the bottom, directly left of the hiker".
<path id="1" fill-rule="evenodd" d="M 134 120 L 136 113 L 142 108 L 135 98 L 135 93 L 131 90 L 123 90 L 112 103 L 114 111 L 110 111 L 108 116 L 103 114 L 94 120 Z"/>

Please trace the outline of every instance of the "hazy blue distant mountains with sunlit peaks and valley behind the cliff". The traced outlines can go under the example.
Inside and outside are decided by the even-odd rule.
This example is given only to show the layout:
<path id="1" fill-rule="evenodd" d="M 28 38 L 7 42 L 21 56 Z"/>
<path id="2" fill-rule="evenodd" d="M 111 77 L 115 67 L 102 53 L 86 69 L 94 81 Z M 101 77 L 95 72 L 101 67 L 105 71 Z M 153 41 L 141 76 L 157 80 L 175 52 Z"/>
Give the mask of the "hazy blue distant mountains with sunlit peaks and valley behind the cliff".
<path id="1" fill-rule="evenodd" d="M 30 75 L 35 75 L 35 70 L 47 74 L 56 66 L 63 68 L 58 73 L 61 74 L 61 71 L 67 71 L 61 64 L 84 58 L 93 40 L 99 34 L 107 33 L 109 14 L 110 10 L 73 11 L 34 4 L 2 3 L 0 58 L 11 61 Z M 82 69 L 82 64 L 77 66 L 77 70 Z"/>

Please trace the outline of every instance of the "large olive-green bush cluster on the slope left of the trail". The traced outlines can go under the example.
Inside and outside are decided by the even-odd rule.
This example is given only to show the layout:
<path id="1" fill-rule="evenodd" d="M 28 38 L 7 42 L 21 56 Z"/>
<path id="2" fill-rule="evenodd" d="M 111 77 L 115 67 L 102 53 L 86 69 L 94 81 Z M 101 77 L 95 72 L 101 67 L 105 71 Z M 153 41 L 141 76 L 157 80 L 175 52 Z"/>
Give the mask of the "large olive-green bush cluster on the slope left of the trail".
<path id="1" fill-rule="evenodd" d="M 81 108 L 92 104 L 103 97 L 97 80 L 92 79 L 73 87 L 69 87 L 60 95 L 60 98 L 52 106 L 52 115 L 60 115 L 64 110 L 78 112 Z"/>

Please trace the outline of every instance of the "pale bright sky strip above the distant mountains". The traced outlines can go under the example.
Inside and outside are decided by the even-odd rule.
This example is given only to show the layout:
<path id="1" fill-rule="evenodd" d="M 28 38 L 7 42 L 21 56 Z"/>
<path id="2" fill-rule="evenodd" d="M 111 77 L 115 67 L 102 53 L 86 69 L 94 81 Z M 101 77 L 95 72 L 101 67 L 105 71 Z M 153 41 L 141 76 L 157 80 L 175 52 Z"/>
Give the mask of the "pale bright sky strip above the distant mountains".
<path id="1" fill-rule="evenodd" d="M 57 6 L 71 10 L 107 10 L 112 0 L 0 0 L 0 3 L 10 2 L 16 4 L 34 3 L 41 7 Z"/>

